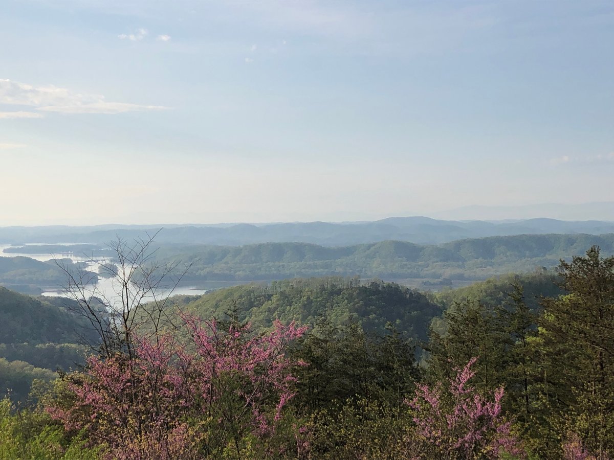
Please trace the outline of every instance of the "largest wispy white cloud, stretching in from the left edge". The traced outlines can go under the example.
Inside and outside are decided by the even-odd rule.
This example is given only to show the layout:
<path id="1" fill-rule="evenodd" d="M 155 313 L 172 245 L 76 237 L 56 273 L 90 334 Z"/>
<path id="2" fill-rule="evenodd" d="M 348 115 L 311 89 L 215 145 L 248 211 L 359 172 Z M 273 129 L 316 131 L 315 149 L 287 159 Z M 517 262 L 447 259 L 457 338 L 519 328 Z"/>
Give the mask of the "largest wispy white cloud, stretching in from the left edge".
<path id="1" fill-rule="evenodd" d="M 107 102 L 101 94 L 77 93 L 54 85 L 32 86 L 26 83 L 0 79 L 0 104 L 29 105 L 36 110 L 58 113 L 123 113 L 145 110 L 163 110 L 168 107 L 160 105 L 139 105 L 126 102 Z M 17 117 L 6 118 L 40 118 L 34 112 L 0 112 L 20 113 Z M 33 114 L 33 115 L 23 115 Z"/>

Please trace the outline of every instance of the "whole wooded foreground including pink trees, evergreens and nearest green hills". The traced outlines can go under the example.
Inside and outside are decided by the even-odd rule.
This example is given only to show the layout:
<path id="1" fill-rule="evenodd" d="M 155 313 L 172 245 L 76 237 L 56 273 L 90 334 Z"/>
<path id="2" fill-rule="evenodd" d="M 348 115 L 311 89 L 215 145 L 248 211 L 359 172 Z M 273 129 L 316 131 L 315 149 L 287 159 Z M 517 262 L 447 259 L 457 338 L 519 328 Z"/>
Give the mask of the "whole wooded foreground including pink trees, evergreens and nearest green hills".
<path id="1" fill-rule="evenodd" d="M 0 298 L 2 385 L 30 390 L 0 402 L 1 458 L 614 456 L 614 257 L 597 247 L 438 294 L 286 280 L 112 321 Z M 112 327 L 85 329 L 98 351 L 67 369 L 83 318 Z"/>

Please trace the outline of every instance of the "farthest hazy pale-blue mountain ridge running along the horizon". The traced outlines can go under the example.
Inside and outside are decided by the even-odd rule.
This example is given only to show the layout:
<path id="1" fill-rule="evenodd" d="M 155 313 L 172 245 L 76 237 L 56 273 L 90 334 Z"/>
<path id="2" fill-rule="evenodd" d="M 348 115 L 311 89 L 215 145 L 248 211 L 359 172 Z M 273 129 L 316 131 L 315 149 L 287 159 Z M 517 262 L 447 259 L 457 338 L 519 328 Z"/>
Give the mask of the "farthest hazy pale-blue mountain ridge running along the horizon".
<path id="1" fill-rule="evenodd" d="M 4 227 L 0 243 L 107 243 L 116 237 L 133 239 L 164 228 L 158 243 L 246 245 L 299 242 L 348 246 L 385 240 L 441 244 L 460 239 L 521 234 L 590 234 L 614 232 L 610 221 L 563 221 L 533 218 L 516 221 L 437 220 L 429 217 L 389 217 L 367 222 L 292 222 L 271 224 L 172 224 L 150 226 Z"/>

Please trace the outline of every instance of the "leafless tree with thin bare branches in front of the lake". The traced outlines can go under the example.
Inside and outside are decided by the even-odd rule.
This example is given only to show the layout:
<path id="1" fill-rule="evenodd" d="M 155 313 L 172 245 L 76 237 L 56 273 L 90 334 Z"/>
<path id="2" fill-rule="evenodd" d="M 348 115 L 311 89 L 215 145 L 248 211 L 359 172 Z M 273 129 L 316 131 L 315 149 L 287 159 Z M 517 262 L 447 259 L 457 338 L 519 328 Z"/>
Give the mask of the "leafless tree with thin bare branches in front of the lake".
<path id="1" fill-rule="evenodd" d="M 173 315 L 169 315 L 168 302 L 188 273 L 192 264 L 179 270 L 181 263 L 160 263 L 155 258 L 157 248 L 153 240 L 162 229 L 146 238 L 127 242 L 120 237 L 109 243 L 111 258 L 103 261 L 93 256 L 87 263 L 98 267 L 98 273 L 111 280 L 115 296 L 109 297 L 96 284 L 97 275 L 81 267 L 55 263 L 66 274 L 66 285 L 62 286 L 68 296 L 76 301 L 70 309 L 87 320 L 98 336 L 96 343 L 81 337 L 91 350 L 106 358 L 115 353 L 127 353 L 133 358 L 134 334 L 149 334 L 158 340 L 161 332 L 174 331 Z"/>

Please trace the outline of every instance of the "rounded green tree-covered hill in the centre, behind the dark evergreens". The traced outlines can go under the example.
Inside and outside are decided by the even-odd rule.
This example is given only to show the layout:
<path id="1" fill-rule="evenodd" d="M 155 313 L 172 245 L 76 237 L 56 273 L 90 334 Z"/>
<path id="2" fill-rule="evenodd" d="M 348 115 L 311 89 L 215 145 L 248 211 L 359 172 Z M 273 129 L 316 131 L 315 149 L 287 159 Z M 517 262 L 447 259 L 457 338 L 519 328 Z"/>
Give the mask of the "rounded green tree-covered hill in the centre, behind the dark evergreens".
<path id="1" fill-rule="evenodd" d="M 359 278 L 293 279 L 266 285 L 243 285 L 206 293 L 187 305 L 201 318 L 238 315 L 255 329 L 274 320 L 313 326 L 328 318 L 336 326 L 352 322 L 367 332 L 383 334 L 387 324 L 415 339 L 426 339 L 438 305 L 424 294 L 395 283 L 360 283 Z"/>

